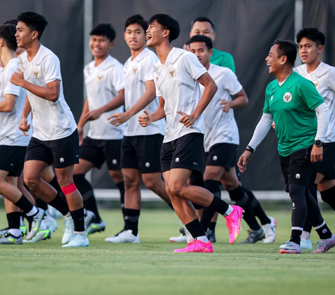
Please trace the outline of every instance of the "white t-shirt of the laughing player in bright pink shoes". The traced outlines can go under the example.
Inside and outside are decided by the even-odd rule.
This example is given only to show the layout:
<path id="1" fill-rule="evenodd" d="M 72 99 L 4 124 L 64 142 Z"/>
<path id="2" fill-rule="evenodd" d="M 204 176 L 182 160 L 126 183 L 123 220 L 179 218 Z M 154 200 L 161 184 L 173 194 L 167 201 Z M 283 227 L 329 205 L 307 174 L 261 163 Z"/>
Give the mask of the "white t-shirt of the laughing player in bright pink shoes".
<path id="1" fill-rule="evenodd" d="M 201 91 L 198 78 L 207 73 L 197 56 L 192 52 L 173 47 L 165 63 L 158 61 L 153 68 L 156 95 L 165 100 L 165 137 L 163 142 L 182 137 L 188 133 L 204 133 L 202 114 L 194 125 L 186 128 L 180 123 L 184 112 L 191 114 L 200 102 Z"/>

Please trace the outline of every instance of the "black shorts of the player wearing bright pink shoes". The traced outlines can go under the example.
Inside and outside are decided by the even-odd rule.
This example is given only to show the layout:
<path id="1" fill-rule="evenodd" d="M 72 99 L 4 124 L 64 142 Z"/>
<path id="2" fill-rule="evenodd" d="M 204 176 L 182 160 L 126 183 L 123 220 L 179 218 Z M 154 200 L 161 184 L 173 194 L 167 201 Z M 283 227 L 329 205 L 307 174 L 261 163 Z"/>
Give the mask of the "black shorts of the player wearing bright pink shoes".
<path id="1" fill-rule="evenodd" d="M 162 172 L 170 169 L 190 169 L 202 173 L 204 135 L 189 133 L 172 142 L 165 142 L 161 149 Z"/>

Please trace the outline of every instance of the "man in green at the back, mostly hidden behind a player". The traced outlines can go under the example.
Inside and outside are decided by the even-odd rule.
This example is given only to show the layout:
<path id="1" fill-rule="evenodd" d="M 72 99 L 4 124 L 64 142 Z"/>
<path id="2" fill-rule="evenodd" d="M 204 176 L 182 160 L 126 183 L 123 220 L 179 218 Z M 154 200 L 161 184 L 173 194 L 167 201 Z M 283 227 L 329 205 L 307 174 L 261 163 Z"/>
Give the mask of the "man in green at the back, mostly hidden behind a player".
<path id="1" fill-rule="evenodd" d="M 207 17 L 197 17 L 191 24 L 190 37 L 195 35 L 204 35 L 214 41 L 216 37 L 214 23 Z M 209 61 L 216 66 L 230 68 L 230 70 L 235 73 L 234 59 L 232 58 L 232 54 L 228 52 L 213 48 L 213 54 L 211 54 L 211 59 Z"/>

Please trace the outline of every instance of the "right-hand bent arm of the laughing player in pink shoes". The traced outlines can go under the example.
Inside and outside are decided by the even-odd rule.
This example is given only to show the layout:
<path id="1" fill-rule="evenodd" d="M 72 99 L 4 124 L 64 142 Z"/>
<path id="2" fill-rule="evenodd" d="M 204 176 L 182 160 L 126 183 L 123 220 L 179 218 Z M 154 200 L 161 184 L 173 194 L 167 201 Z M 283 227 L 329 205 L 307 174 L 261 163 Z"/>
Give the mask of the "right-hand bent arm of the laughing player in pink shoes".
<path id="1" fill-rule="evenodd" d="M 201 75 L 198 78 L 198 82 L 204 86 L 204 93 L 202 94 L 202 98 L 197 107 L 195 107 L 192 114 L 189 115 L 183 112 L 177 112 L 178 114 L 181 114 L 181 119 L 179 122 L 184 124 L 186 127 L 192 126 L 195 121 L 198 120 L 200 114 L 204 112 L 204 109 L 206 109 L 207 105 L 211 102 L 214 94 L 218 90 L 218 86 L 216 86 L 209 73 L 204 73 L 204 75 Z"/>

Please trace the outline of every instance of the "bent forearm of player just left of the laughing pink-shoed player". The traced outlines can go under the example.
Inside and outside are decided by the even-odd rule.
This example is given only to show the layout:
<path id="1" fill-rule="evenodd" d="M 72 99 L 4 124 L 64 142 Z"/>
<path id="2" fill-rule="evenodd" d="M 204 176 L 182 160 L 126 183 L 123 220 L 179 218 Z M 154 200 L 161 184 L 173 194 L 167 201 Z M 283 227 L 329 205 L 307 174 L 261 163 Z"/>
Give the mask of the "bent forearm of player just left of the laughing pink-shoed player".
<path id="1" fill-rule="evenodd" d="M 145 93 L 139 100 L 137 100 L 137 103 L 135 103 L 133 107 L 131 107 L 124 113 L 113 114 L 108 118 L 108 120 L 112 119 L 112 121 L 110 121 L 112 125 L 120 126 L 121 124 L 128 121 L 132 116 L 140 112 L 141 109 L 147 107 L 147 105 L 149 105 L 149 103 L 151 103 L 151 101 L 154 100 L 155 98 L 156 98 L 155 83 L 153 80 L 149 80 L 145 82 Z"/>

